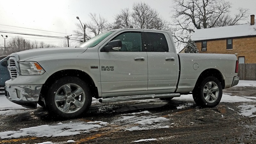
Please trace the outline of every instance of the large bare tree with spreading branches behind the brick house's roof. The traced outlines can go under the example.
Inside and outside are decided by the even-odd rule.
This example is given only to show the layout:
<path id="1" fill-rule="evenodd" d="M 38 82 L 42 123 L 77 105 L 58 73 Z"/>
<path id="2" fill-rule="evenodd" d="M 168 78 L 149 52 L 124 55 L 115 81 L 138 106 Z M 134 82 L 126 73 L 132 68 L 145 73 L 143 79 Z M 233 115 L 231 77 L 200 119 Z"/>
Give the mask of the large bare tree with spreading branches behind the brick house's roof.
<path id="1" fill-rule="evenodd" d="M 239 8 L 230 16 L 231 3 L 225 0 L 173 0 L 173 36 L 184 43 L 196 29 L 237 25 L 245 20 L 249 10 Z"/>

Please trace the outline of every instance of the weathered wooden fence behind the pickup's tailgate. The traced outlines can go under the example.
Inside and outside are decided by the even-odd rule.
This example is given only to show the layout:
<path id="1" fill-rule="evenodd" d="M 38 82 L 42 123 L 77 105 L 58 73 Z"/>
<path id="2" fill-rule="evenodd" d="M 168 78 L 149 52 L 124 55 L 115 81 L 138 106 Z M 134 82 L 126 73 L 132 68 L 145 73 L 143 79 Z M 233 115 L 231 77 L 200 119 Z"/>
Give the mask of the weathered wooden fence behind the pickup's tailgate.
<path id="1" fill-rule="evenodd" d="M 256 63 L 239 63 L 238 68 L 240 80 L 256 80 Z"/>

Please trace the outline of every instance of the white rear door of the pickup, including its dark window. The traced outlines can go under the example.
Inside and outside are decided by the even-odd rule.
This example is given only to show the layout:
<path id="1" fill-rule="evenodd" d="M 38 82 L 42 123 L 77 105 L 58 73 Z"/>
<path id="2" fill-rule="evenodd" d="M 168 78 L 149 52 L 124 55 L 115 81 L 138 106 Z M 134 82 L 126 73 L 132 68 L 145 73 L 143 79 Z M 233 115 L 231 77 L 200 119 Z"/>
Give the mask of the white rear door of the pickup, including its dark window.
<path id="1" fill-rule="evenodd" d="M 179 66 L 170 36 L 158 31 L 145 30 L 144 33 L 148 54 L 148 90 L 174 92 Z"/>

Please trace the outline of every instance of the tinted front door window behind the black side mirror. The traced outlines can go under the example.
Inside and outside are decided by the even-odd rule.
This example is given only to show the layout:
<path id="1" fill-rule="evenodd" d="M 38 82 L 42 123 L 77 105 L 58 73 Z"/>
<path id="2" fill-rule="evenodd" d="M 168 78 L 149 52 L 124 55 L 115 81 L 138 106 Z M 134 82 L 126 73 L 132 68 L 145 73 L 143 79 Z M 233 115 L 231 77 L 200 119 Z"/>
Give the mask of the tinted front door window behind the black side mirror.
<path id="1" fill-rule="evenodd" d="M 121 40 L 121 52 L 142 52 L 142 40 L 140 32 L 124 32 L 116 36 L 113 40 Z"/>

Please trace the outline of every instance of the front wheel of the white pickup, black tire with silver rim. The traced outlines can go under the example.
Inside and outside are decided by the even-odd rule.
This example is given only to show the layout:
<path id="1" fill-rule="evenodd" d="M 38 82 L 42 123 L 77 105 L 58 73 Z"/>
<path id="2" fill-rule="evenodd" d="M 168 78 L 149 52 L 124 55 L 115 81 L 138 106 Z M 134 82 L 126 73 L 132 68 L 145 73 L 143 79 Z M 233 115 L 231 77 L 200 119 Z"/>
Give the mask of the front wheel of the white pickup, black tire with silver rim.
<path id="1" fill-rule="evenodd" d="M 46 108 L 56 118 L 82 116 L 91 106 L 92 95 L 87 83 L 67 76 L 55 81 L 45 98 Z"/>

